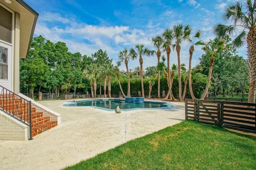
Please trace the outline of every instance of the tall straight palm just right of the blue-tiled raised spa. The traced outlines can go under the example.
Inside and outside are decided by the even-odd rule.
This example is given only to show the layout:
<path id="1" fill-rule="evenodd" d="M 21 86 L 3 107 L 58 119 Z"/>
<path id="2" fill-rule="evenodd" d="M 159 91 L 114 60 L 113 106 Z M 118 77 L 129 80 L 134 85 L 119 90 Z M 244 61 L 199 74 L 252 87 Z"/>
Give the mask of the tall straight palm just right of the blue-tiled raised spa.
<path id="1" fill-rule="evenodd" d="M 152 37 L 151 39 L 154 47 L 156 48 L 156 56 L 157 56 L 157 64 L 160 63 L 160 57 L 161 57 L 161 48 L 163 45 L 163 38 L 160 35 L 156 35 L 155 37 Z M 157 88 L 157 97 L 160 98 L 160 70 L 158 70 L 158 88 Z"/>

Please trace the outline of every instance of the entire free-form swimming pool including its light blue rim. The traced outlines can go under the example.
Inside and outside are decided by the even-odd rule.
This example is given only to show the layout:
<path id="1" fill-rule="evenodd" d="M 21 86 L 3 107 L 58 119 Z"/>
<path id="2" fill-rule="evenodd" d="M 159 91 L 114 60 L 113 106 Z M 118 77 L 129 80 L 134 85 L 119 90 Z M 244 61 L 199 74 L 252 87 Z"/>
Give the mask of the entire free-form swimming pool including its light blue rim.
<path id="1" fill-rule="evenodd" d="M 117 106 L 122 110 L 134 109 L 167 109 L 173 107 L 166 102 L 144 101 L 144 102 L 125 102 L 124 99 L 91 99 L 91 100 L 77 100 L 72 101 L 64 106 L 90 106 L 108 111 L 113 111 Z"/>

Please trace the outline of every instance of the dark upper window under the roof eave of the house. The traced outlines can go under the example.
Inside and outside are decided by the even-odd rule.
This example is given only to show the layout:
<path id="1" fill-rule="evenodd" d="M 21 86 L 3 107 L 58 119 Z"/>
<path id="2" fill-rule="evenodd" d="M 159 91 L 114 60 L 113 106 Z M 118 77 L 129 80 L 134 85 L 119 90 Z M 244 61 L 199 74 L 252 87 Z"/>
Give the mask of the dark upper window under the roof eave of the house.
<path id="1" fill-rule="evenodd" d="M 0 6 L 0 39 L 12 43 L 12 13 Z"/>

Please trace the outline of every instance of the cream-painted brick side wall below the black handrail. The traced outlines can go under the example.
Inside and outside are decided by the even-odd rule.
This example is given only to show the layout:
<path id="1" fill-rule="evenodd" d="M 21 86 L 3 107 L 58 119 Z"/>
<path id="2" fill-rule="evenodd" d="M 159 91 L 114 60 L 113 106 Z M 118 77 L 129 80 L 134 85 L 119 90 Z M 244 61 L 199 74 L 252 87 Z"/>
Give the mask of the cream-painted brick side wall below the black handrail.
<path id="1" fill-rule="evenodd" d="M 0 111 L 0 140 L 28 140 L 28 126 Z"/>

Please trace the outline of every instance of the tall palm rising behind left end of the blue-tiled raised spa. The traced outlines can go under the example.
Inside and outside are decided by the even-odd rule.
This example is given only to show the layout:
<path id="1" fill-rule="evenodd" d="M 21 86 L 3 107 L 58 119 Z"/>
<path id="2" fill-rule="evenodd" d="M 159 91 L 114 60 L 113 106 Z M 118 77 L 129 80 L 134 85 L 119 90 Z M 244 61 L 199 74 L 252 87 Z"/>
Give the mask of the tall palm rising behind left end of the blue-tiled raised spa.
<path id="1" fill-rule="evenodd" d="M 128 51 L 127 48 L 125 47 L 123 51 L 119 51 L 118 59 L 119 61 L 117 62 L 117 65 L 120 66 L 122 62 L 124 62 L 126 66 L 126 73 L 127 73 L 127 78 L 128 78 L 128 86 L 127 86 L 127 96 L 131 97 L 131 92 L 130 92 L 130 72 L 128 69 L 128 61 L 132 57 L 131 50 Z"/>

